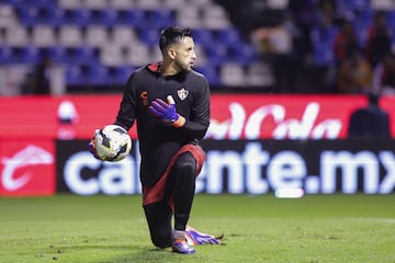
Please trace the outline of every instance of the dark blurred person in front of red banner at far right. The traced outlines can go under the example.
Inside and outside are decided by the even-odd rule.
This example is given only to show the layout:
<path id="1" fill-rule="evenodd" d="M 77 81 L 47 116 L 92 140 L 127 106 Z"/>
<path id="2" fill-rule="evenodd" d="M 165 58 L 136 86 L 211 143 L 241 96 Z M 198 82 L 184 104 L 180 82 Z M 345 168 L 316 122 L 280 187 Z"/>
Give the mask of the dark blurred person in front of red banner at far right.
<path id="1" fill-rule="evenodd" d="M 380 107 L 380 94 L 369 92 L 368 105 L 351 113 L 348 138 L 391 139 L 388 113 Z"/>

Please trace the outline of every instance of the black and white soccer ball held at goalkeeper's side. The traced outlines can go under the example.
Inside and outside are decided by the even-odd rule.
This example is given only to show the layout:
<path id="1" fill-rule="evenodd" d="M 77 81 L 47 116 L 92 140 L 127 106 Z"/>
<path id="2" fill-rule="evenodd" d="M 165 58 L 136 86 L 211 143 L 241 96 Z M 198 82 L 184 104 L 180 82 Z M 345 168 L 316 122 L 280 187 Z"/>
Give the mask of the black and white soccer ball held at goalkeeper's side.
<path id="1" fill-rule="evenodd" d="M 119 125 L 111 124 L 97 130 L 93 140 L 95 153 L 103 161 L 117 162 L 131 152 L 131 136 Z"/>

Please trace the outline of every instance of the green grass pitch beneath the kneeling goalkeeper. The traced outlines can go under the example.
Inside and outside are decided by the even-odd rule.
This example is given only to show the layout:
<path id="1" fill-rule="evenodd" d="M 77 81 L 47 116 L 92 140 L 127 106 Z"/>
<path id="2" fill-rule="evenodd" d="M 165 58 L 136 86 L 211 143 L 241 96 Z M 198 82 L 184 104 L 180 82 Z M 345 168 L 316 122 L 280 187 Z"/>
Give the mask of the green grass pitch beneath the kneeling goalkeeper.
<path id="1" fill-rule="evenodd" d="M 191 225 L 224 245 L 155 250 L 140 196 L 0 198 L 0 263 L 395 263 L 394 195 L 196 195 Z"/>

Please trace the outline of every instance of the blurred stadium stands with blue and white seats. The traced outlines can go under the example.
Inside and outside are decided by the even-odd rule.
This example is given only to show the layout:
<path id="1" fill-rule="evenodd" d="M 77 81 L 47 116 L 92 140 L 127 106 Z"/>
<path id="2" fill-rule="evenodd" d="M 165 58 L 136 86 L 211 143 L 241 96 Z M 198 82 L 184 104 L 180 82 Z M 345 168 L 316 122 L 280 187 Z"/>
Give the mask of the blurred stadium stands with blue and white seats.
<path id="1" fill-rule="evenodd" d="M 54 94 L 120 91 L 133 69 L 160 59 L 158 32 L 174 24 L 193 30 L 196 70 L 213 91 L 336 92 L 340 20 L 365 46 L 377 11 L 393 31 L 390 0 L 2 0 L 0 94 L 29 93 L 43 54 L 54 61 Z"/>

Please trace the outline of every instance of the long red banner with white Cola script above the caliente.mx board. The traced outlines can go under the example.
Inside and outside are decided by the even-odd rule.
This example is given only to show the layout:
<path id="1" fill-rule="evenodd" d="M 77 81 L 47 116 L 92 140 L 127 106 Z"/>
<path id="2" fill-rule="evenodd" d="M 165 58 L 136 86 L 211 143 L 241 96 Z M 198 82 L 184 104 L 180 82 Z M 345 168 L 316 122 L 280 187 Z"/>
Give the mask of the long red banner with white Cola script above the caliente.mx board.
<path id="1" fill-rule="evenodd" d="M 88 139 L 113 123 L 120 95 L 20 96 L 0 99 L 0 139 Z M 213 94 L 213 139 L 338 139 L 363 95 Z M 382 98 L 395 135 L 395 98 Z M 136 138 L 135 127 L 131 135 Z"/>

